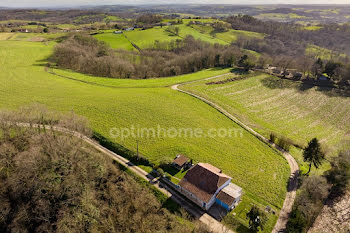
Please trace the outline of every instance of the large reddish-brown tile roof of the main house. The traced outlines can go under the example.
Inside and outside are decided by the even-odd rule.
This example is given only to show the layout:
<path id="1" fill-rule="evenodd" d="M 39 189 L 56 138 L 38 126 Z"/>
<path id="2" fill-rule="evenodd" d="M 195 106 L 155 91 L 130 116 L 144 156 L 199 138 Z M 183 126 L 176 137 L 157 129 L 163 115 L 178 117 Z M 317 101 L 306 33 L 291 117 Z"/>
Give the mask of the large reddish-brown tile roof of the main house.
<path id="1" fill-rule="evenodd" d="M 220 169 L 210 164 L 198 163 L 188 170 L 179 185 L 208 203 L 218 188 L 228 180 L 231 180 L 231 177 L 221 173 Z"/>

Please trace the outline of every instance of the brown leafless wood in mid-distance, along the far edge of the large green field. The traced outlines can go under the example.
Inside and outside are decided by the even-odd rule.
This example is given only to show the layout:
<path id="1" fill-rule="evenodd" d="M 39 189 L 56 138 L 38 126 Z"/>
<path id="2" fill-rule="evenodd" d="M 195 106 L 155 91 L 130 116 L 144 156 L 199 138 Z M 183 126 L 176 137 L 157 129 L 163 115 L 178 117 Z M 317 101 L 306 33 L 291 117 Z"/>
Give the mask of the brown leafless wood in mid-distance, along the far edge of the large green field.
<path id="1" fill-rule="evenodd" d="M 132 55 L 132 54 L 131 54 Z M 152 78 L 196 72 L 212 67 L 231 67 L 243 56 L 236 46 L 211 45 L 187 36 L 170 43 L 156 42 L 154 48 L 118 55 L 95 38 L 75 34 L 55 47 L 51 60 L 59 67 L 113 78 Z M 248 56 L 245 56 L 248 60 Z"/>

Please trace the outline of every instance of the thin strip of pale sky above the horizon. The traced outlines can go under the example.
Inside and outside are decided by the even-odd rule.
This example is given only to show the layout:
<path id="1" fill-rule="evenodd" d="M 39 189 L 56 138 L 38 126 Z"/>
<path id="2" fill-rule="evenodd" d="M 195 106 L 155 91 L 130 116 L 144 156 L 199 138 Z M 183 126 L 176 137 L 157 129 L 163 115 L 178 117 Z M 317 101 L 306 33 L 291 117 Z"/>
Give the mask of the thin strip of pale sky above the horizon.
<path id="1" fill-rule="evenodd" d="M 72 7 L 136 4 L 350 4 L 350 0 L 0 0 L 2 7 Z"/>

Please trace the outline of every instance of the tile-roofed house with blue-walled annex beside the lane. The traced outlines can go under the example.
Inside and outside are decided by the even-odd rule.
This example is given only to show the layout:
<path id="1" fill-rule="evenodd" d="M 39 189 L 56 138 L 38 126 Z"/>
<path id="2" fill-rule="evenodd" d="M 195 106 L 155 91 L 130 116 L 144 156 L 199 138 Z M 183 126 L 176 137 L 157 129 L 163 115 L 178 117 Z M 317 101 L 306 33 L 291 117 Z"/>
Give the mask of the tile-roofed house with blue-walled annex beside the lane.
<path id="1" fill-rule="evenodd" d="M 231 180 L 219 168 L 198 163 L 179 182 L 179 190 L 204 210 L 209 210 L 214 203 L 231 210 L 242 195 L 242 189 L 231 184 Z"/>

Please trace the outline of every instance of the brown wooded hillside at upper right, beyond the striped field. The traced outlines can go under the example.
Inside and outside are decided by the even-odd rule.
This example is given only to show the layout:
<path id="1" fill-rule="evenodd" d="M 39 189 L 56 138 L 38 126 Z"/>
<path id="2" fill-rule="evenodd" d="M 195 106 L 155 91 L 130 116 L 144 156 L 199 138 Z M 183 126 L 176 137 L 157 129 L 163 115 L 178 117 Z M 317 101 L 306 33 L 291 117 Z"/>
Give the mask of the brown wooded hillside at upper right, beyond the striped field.
<path id="1" fill-rule="evenodd" d="M 300 25 L 260 21 L 251 16 L 227 18 L 233 29 L 264 33 L 263 39 L 239 38 L 235 44 L 262 54 L 257 67 L 274 65 L 282 71 L 296 69 L 305 78 L 319 78 L 327 74 L 335 82 L 349 84 L 350 81 L 350 26 L 323 25 L 319 30 L 302 30 Z M 328 58 L 307 54 L 310 45 L 317 45 L 331 51 Z"/>

